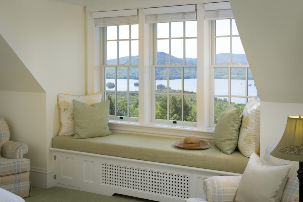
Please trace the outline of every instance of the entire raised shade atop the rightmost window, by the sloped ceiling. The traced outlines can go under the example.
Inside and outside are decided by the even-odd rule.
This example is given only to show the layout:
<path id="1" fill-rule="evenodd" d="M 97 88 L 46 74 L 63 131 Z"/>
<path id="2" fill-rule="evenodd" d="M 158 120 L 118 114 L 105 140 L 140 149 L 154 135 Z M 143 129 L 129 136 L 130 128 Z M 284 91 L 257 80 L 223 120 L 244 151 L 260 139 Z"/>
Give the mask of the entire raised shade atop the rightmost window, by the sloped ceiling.
<path id="1" fill-rule="evenodd" d="M 229 2 L 204 4 L 205 20 L 220 20 L 234 18 Z"/>

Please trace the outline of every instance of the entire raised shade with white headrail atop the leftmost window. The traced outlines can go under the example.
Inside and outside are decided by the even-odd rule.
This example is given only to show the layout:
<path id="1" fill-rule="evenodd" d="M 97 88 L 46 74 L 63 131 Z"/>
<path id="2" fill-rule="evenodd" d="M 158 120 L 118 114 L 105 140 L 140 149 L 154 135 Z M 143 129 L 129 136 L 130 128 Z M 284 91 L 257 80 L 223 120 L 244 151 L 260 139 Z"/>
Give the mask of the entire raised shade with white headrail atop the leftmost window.
<path id="1" fill-rule="evenodd" d="M 95 27 L 138 24 L 138 10 L 94 12 Z"/>

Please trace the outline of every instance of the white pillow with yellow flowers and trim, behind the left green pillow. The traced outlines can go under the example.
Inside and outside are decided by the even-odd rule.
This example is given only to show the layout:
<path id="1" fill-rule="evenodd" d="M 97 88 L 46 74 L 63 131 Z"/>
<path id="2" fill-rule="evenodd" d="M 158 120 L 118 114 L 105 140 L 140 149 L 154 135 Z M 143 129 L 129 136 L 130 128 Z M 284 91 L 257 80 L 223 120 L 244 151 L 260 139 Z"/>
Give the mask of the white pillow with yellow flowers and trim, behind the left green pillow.
<path id="1" fill-rule="evenodd" d="M 101 102 L 101 98 L 101 92 L 92 95 L 69 95 L 59 93 L 58 104 L 60 108 L 61 127 L 58 135 L 70 136 L 75 134 L 73 100 L 85 102 L 87 104 L 94 104 Z"/>

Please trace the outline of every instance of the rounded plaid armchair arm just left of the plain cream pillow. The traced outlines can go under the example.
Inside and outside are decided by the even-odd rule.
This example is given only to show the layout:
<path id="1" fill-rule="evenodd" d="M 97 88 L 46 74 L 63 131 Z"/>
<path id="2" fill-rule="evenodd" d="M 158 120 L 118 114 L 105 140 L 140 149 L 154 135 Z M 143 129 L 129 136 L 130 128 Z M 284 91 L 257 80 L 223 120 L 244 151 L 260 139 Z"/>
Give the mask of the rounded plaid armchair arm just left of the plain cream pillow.
<path id="1" fill-rule="evenodd" d="M 213 176 L 203 181 L 203 190 L 209 202 L 235 201 L 241 176 Z"/>

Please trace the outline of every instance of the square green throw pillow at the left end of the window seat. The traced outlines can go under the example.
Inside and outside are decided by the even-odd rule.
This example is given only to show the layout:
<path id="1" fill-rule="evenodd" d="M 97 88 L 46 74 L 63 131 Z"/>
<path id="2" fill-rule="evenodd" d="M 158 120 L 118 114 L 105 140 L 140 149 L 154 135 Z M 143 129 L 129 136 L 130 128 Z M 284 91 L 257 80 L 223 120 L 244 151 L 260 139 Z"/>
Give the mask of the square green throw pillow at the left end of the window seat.
<path id="1" fill-rule="evenodd" d="M 111 135 L 108 128 L 109 100 L 86 104 L 73 100 L 75 136 L 74 139 Z"/>

